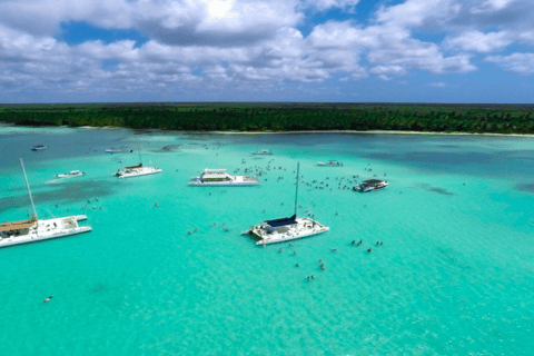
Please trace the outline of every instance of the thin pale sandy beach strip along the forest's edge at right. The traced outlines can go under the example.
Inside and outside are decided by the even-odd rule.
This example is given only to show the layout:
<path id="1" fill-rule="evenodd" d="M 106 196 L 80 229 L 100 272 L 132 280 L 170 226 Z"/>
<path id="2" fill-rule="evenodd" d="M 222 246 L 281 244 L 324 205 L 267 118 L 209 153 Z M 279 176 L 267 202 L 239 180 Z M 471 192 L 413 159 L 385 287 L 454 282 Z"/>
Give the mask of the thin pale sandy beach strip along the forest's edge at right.
<path id="1" fill-rule="evenodd" d="M 432 132 L 432 131 L 388 131 L 388 130 L 329 130 L 329 131 L 206 131 L 215 135 L 313 135 L 313 134 L 346 134 L 346 135 L 429 135 L 429 136 L 501 136 L 534 138 L 531 134 L 492 134 L 492 132 Z"/>

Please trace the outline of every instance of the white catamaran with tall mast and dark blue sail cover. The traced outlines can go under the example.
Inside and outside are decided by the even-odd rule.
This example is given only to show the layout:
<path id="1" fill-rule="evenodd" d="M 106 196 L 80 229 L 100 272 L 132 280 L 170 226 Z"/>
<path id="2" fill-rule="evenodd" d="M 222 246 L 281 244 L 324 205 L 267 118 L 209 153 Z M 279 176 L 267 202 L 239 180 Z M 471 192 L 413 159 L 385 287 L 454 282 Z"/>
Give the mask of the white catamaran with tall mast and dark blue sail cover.
<path id="1" fill-rule="evenodd" d="M 297 188 L 295 192 L 295 214 L 288 218 L 279 218 L 265 220 L 260 225 L 253 226 L 250 229 L 243 231 L 243 235 L 251 235 L 259 240 L 257 246 L 269 244 L 286 243 L 298 238 L 319 235 L 328 231 L 330 228 L 324 226 L 312 218 L 297 217 L 297 198 L 298 198 L 298 177 L 299 167 L 297 166 Z"/>

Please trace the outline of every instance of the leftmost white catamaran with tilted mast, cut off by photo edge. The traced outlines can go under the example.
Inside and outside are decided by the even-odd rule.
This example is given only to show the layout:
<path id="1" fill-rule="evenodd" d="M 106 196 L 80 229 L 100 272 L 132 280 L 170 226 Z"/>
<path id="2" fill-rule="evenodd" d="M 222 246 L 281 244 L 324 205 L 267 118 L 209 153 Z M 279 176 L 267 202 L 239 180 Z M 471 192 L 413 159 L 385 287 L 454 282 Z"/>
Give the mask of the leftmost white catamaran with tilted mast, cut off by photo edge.
<path id="1" fill-rule="evenodd" d="M 31 196 L 30 185 L 26 176 L 24 165 L 20 160 L 22 171 L 24 172 L 26 186 L 28 195 L 30 196 L 31 206 L 33 208 L 33 216 L 31 219 L 2 222 L 0 224 L 0 248 L 49 240 L 58 237 L 66 237 L 89 233 L 92 230 L 90 226 L 79 226 L 78 221 L 87 220 L 86 215 L 75 215 L 53 219 L 39 219 L 37 216 L 36 206 L 33 205 L 33 197 Z"/>

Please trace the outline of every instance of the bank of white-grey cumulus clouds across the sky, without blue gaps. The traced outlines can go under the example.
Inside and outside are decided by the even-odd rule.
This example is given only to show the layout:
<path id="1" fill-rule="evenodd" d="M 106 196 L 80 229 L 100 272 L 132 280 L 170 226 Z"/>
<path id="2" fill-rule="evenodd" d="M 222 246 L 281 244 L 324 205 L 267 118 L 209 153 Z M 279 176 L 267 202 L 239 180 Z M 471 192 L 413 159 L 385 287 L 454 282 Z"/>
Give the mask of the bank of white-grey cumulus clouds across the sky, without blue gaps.
<path id="1" fill-rule="evenodd" d="M 276 90 L 336 75 L 383 80 L 412 71 L 476 70 L 473 52 L 534 44 L 532 0 L 405 0 L 369 21 L 326 20 L 310 12 L 357 11 L 359 0 L 17 0 L 0 2 L 0 86 L 7 90 Z M 82 21 L 131 29 L 149 40 L 69 46 L 61 24 Z M 299 26 L 312 28 L 304 36 Z M 488 31 L 491 28 L 491 31 Z M 423 40 L 441 34 L 441 43 Z M 532 55 L 488 62 L 532 72 Z M 113 66 L 106 66 L 113 61 Z M 337 77 L 339 78 L 339 76 Z M 248 89 L 247 89 L 248 88 Z"/>

